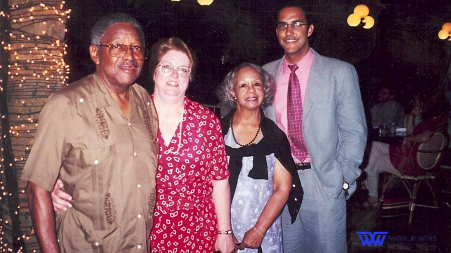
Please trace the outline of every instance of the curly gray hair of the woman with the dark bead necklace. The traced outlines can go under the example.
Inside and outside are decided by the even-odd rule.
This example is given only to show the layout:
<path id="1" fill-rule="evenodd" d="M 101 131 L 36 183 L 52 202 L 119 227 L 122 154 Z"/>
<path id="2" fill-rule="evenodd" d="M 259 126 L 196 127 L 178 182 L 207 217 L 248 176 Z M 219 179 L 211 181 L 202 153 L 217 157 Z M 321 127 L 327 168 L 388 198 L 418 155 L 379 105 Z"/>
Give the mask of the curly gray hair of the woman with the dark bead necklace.
<path id="1" fill-rule="evenodd" d="M 271 105 L 274 101 L 274 93 L 276 91 L 274 78 L 261 66 L 250 62 L 241 63 L 239 66 L 235 67 L 234 69 L 232 69 L 232 71 L 225 75 L 224 79 L 216 90 L 216 95 L 218 96 L 219 101 L 231 108 L 237 106 L 237 100 L 233 98 L 230 91 L 234 88 L 235 76 L 237 75 L 237 72 L 240 71 L 240 69 L 242 69 L 243 67 L 247 66 L 254 68 L 262 76 L 265 96 L 263 97 L 263 103 L 261 106 L 265 108 Z"/>

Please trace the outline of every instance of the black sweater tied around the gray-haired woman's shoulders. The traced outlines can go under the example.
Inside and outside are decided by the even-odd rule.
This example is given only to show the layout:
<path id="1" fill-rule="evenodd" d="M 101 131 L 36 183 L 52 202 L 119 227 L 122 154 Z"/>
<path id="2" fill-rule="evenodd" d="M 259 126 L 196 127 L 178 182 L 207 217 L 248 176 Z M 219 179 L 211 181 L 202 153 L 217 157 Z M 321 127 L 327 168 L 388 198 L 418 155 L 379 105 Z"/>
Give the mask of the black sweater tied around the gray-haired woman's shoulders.
<path id="1" fill-rule="evenodd" d="M 301 207 L 304 191 L 302 190 L 295 162 L 291 156 L 290 143 L 288 142 L 285 133 L 276 125 L 276 123 L 267 118 L 265 114 L 263 114 L 263 111 L 260 111 L 260 113 L 263 138 L 258 143 L 242 146 L 240 148 L 233 148 L 225 145 L 225 153 L 230 156 L 229 184 L 231 188 L 231 198 L 233 199 L 237 188 L 238 176 L 243 167 L 243 157 L 254 156 L 254 164 L 251 171 L 249 171 L 248 176 L 254 179 L 268 180 L 268 166 L 265 156 L 274 153 L 280 163 L 282 163 L 282 165 L 291 173 L 292 188 L 287 204 L 291 215 L 291 222 L 293 223 L 296 220 L 299 208 Z M 230 121 L 234 114 L 235 109 L 221 119 L 223 136 L 229 132 Z"/>

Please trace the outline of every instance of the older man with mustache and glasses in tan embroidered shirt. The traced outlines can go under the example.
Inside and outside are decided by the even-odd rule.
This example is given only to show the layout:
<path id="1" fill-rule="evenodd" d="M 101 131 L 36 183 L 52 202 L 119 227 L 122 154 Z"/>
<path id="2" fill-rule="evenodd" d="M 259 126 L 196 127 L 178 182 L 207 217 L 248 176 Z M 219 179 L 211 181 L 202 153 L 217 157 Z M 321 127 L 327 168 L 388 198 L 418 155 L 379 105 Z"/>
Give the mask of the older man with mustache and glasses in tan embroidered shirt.
<path id="1" fill-rule="evenodd" d="M 95 73 L 50 96 L 22 174 L 38 240 L 43 252 L 147 252 L 158 124 L 134 83 L 146 57 L 142 28 L 126 14 L 105 16 L 89 51 Z M 55 217 L 58 177 L 73 206 Z"/>

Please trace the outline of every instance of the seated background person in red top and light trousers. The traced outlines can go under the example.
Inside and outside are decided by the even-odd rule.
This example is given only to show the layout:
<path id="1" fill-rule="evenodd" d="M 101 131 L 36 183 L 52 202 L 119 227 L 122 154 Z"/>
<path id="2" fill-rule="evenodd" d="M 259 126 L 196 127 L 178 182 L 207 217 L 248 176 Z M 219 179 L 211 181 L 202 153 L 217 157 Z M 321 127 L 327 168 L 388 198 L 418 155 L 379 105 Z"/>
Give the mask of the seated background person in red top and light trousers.
<path id="1" fill-rule="evenodd" d="M 413 110 L 417 110 L 413 108 Z M 419 175 L 425 173 L 416 161 L 416 150 L 420 143 L 429 141 L 436 131 L 446 132 L 447 105 L 443 99 L 436 97 L 435 101 L 425 101 L 420 109 L 423 120 L 413 126 L 413 116 L 407 118 L 407 136 L 399 144 L 386 144 L 379 141 L 371 143 L 368 165 L 364 168 L 367 174 L 366 187 L 369 191 L 365 207 L 376 207 L 378 200 L 379 172 L 393 174 Z"/>

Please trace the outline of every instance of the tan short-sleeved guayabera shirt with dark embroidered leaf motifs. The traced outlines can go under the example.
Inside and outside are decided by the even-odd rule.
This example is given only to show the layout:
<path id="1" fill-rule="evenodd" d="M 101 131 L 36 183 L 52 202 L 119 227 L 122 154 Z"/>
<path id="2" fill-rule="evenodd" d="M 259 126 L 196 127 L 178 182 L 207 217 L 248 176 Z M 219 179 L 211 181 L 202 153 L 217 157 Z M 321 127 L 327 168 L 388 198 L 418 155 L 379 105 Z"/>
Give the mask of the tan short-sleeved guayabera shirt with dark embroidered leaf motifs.
<path id="1" fill-rule="evenodd" d="M 95 73 L 56 91 L 40 114 L 21 179 L 51 191 L 60 176 L 73 196 L 56 215 L 62 252 L 149 250 L 158 123 L 147 91 L 129 89 L 129 119 Z"/>

